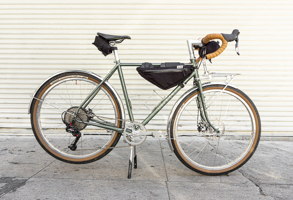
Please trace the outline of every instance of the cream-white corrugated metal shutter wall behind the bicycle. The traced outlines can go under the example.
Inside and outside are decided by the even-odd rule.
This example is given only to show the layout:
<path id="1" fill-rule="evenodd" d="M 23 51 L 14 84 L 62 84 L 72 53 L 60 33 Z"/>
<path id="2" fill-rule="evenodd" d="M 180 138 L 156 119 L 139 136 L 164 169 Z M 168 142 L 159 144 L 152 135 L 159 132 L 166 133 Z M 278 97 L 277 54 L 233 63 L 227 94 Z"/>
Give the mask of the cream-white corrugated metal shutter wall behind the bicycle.
<path id="1" fill-rule="evenodd" d="M 187 39 L 239 29 L 241 56 L 231 42 L 208 64 L 209 70 L 242 74 L 232 84 L 255 102 L 263 135 L 293 135 L 292 1 L 137 2 L 0 1 L 0 132 L 30 128 L 30 95 L 48 76 L 65 69 L 101 76 L 110 71 L 114 55 L 104 57 L 91 44 L 96 32 L 131 36 L 118 45 L 121 62 L 189 62 Z M 123 72 L 130 96 L 140 94 L 142 103 L 153 89 L 162 96 L 171 92 L 142 79 L 135 67 L 123 67 Z M 122 94 L 117 75 L 109 82 Z M 192 81 L 180 94 L 191 86 Z M 180 94 L 148 129 L 166 128 L 169 110 Z M 134 107 L 139 107 L 137 103 L 133 98 Z M 134 112 L 137 121 L 147 116 L 146 107 L 142 109 Z"/>

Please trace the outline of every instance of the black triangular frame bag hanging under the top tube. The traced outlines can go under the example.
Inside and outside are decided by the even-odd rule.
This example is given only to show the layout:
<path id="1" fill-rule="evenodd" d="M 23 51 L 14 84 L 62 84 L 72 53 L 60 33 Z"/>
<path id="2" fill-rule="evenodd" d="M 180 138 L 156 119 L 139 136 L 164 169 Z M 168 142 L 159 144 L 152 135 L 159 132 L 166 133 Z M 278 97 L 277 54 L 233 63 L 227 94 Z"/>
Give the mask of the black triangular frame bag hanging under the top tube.
<path id="1" fill-rule="evenodd" d="M 145 62 L 136 70 L 144 79 L 163 90 L 180 84 L 193 71 L 192 66 L 185 66 L 180 62 L 165 62 L 160 66 Z"/>

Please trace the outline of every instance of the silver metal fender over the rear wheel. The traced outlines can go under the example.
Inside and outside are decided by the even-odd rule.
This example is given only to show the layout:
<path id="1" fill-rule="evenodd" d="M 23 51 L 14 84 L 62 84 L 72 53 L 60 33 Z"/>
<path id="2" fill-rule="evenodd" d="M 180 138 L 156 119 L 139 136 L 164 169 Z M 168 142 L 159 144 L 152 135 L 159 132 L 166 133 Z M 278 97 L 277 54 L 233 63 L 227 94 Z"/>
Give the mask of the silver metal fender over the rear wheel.
<path id="1" fill-rule="evenodd" d="M 35 97 L 36 93 L 37 93 L 38 90 L 42 87 L 42 85 L 45 84 L 45 82 L 47 82 L 47 81 L 48 81 L 49 79 L 51 79 L 52 77 L 57 76 L 58 74 L 62 74 L 62 73 L 66 73 L 66 72 L 83 72 L 83 73 L 86 73 L 86 74 L 89 74 L 89 75 L 95 76 L 95 77 L 97 77 L 97 78 L 100 79 L 100 80 L 103 80 L 103 77 L 101 77 L 101 76 L 99 76 L 99 75 L 97 75 L 97 74 L 95 74 L 95 73 L 93 73 L 93 72 L 88 72 L 88 71 L 85 71 L 85 70 L 79 70 L 79 69 L 65 70 L 65 71 L 62 71 L 62 72 L 58 72 L 58 73 L 56 73 L 56 74 L 53 74 L 52 76 L 48 77 L 45 81 L 43 81 L 43 82 L 40 84 L 40 86 L 35 90 L 35 92 L 34 92 L 34 94 L 33 94 L 33 97 Z M 110 90 L 113 91 L 113 94 L 114 94 L 115 97 L 117 98 L 118 103 L 119 103 L 119 105 L 120 105 L 120 107 L 121 107 L 122 118 L 123 118 L 123 120 L 125 120 L 124 107 L 123 107 L 123 103 L 122 103 L 122 100 L 121 100 L 120 96 L 118 95 L 118 93 L 116 92 L 116 90 L 114 89 L 114 87 L 113 87 L 108 81 L 105 81 L 104 84 L 107 85 L 107 86 L 110 88 Z M 28 107 L 28 114 L 30 114 L 30 109 L 31 109 L 31 107 L 32 107 L 33 97 L 32 97 L 32 99 L 30 100 L 30 105 L 29 105 L 29 107 Z"/>

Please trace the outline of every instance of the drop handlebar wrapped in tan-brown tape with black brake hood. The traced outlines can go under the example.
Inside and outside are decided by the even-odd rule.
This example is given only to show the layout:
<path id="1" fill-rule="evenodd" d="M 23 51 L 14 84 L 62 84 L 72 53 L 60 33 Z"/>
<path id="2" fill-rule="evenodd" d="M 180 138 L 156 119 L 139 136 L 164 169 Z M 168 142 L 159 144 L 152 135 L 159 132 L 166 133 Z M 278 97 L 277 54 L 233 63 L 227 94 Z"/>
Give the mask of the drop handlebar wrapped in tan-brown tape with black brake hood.
<path id="1" fill-rule="evenodd" d="M 238 29 L 234 29 L 231 34 L 208 34 L 202 39 L 202 43 L 205 45 L 207 44 L 210 40 L 213 39 L 220 39 L 222 40 L 222 45 L 220 48 L 218 48 L 217 51 L 214 51 L 213 53 L 209 53 L 205 55 L 205 59 L 212 59 L 220 55 L 227 47 L 228 42 L 231 42 L 233 40 L 236 41 L 236 51 L 238 51 L 238 35 L 240 34 Z M 238 52 L 237 52 L 238 53 Z"/>

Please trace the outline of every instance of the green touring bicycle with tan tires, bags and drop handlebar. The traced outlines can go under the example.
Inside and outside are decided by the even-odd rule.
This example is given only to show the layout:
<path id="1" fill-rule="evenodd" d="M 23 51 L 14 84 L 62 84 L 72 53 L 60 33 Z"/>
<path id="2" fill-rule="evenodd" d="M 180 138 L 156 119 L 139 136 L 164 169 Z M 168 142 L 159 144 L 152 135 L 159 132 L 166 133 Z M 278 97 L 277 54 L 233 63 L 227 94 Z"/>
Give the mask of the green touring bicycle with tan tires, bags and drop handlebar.
<path id="1" fill-rule="evenodd" d="M 258 146 L 260 117 L 251 99 L 230 84 L 237 74 L 209 73 L 205 60 L 221 54 L 231 41 L 236 41 L 239 55 L 239 34 L 235 29 L 231 34 L 187 40 L 190 63 L 120 63 L 116 44 L 130 36 L 98 33 L 93 44 L 105 56 L 114 52 L 115 66 L 104 78 L 84 70 L 66 70 L 43 81 L 31 96 L 28 111 L 35 138 L 54 158 L 84 164 L 119 148 L 115 146 L 123 136 L 122 147 L 130 147 L 128 178 L 133 156 L 137 168 L 136 146 L 147 136 L 166 138 L 171 151 L 195 172 L 222 175 L 238 169 Z M 222 45 L 214 39 L 222 40 Z M 197 59 L 195 49 L 200 55 Z M 224 76 L 229 82 L 202 84 L 198 74 L 201 63 L 206 76 Z M 135 121 L 132 114 L 122 74 L 124 66 L 136 66 L 141 76 L 162 89 L 176 86 L 142 122 Z M 125 119 L 122 100 L 108 82 L 116 70 L 130 120 Z M 147 131 L 144 126 L 192 78 L 193 87 L 170 111 L 167 131 Z"/>

